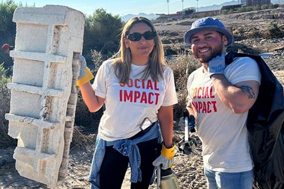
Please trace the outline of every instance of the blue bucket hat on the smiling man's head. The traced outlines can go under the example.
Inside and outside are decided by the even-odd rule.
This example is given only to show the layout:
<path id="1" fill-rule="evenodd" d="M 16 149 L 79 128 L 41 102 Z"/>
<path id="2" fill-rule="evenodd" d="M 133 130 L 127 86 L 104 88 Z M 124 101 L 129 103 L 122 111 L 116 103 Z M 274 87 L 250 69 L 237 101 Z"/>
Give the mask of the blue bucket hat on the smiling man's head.
<path id="1" fill-rule="evenodd" d="M 228 40 L 226 47 L 229 47 L 233 43 L 233 35 L 226 29 L 225 25 L 217 18 L 206 17 L 194 21 L 191 25 L 190 30 L 188 30 L 184 35 L 184 42 L 191 45 L 191 36 L 199 31 L 203 30 L 214 30 L 223 33 Z"/>

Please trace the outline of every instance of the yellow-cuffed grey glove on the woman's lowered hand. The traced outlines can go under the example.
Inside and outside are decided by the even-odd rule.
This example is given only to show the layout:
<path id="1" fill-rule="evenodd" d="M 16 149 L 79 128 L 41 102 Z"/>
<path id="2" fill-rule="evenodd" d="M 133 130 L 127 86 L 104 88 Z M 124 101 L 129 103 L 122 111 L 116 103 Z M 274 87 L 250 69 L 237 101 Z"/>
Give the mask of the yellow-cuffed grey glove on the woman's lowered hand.
<path id="1" fill-rule="evenodd" d="M 162 169 L 168 169 L 173 165 L 173 156 L 175 153 L 175 145 L 171 148 L 166 148 L 164 144 L 162 144 L 161 155 L 153 161 L 153 166 L 158 167 L 162 165 Z"/>

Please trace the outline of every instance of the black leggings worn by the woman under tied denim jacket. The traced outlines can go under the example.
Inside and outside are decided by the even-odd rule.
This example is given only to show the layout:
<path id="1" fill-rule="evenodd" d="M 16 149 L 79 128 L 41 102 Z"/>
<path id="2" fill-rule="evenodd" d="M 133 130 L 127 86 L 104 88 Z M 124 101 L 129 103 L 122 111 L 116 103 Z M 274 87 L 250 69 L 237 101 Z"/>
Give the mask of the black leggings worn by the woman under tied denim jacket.
<path id="1" fill-rule="evenodd" d="M 137 144 L 141 156 L 142 181 L 131 183 L 131 189 L 148 189 L 154 172 L 152 162 L 156 159 L 155 148 L 158 139 Z M 113 146 L 106 147 L 105 157 L 100 169 L 100 189 L 121 189 L 129 157 L 122 155 Z"/>

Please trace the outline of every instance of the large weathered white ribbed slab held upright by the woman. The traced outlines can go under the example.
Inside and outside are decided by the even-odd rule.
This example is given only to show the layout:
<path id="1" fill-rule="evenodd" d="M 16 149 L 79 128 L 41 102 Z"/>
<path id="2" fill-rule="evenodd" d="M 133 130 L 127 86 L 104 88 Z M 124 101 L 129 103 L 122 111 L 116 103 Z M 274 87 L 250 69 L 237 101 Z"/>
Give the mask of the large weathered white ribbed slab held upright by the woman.
<path id="1" fill-rule="evenodd" d="M 54 188 L 66 177 L 85 16 L 66 6 L 15 10 L 15 49 L 8 134 L 23 177 Z"/>

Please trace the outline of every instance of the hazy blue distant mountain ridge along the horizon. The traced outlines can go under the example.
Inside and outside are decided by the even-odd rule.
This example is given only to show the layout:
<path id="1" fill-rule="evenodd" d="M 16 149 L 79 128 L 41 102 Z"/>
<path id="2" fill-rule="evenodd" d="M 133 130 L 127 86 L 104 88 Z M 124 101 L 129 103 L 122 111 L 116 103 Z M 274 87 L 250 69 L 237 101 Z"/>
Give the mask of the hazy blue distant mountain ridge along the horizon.
<path id="1" fill-rule="evenodd" d="M 210 6 L 201 6 L 201 7 L 198 7 L 198 11 L 219 10 L 219 9 L 222 8 L 222 6 L 238 4 L 238 2 L 239 2 L 238 0 L 231 0 L 231 1 L 228 1 L 228 2 L 224 2 L 222 4 L 213 4 L 213 5 L 210 5 Z M 273 4 L 277 4 L 277 3 L 283 4 L 284 0 L 271 0 L 271 2 Z M 160 13 L 160 12 L 156 12 L 156 13 Z M 141 12 L 139 14 L 127 14 L 127 15 L 121 16 L 121 19 L 123 21 L 127 21 L 130 18 L 135 17 L 135 16 L 143 16 L 143 17 L 146 17 L 150 20 L 156 19 L 158 17 L 158 15 L 156 15 L 155 13 L 146 14 L 146 13 Z"/>

